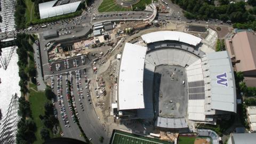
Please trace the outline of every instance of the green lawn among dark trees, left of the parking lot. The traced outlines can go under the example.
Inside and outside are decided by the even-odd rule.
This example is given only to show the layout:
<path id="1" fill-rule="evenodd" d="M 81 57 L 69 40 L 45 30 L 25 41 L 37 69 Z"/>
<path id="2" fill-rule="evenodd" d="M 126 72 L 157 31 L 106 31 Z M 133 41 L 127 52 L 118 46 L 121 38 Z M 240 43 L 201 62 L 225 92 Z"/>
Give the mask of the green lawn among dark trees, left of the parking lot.
<path id="1" fill-rule="evenodd" d="M 36 87 L 35 84 L 29 84 L 31 87 Z M 34 88 L 35 89 L 35 88 Z M 45 92 L 36 92 L 34 90 L 30 89 L 30 96 L 29 96 L 29 102 L 30 102 L 30 108 L 32 111 L 32 117 L 34 119 L 34 122 L 36 123 L 37 130 L 35 132 L 36 135 L 36 141 L 35 144 L 41 144 L 44 142 L 43 139 L 41 139 L 40 131 L 43 128 L 44 124 L 42 123 L 41 119 L 39 118 L 39 115 L 44 115 L 44 103 L 50 101 L 47 100 L 45 97 Z M 50 131 L 50 137 L 60 137 L 60 135 L 53 135 L 52 131 Z"/>

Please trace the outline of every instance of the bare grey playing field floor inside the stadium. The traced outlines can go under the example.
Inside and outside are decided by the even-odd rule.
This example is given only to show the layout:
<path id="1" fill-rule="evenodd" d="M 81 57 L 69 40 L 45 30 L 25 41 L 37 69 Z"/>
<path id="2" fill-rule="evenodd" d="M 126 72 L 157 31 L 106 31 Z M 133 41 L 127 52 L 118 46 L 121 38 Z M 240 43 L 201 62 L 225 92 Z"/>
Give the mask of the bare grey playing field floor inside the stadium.
<path id="1" fill-rule="evenodd" d="M 155 70 L 154 89 L 161 117 L 180 118 L 187 112 L 187 85 L 185 68 L 180 66 L 158 66 Z M 158 93 L 159 91 L 159 93 Z M 171 102 L 172 101 L 172 102 Z M 157 105 L 155 104 L 155 105 Z"/>

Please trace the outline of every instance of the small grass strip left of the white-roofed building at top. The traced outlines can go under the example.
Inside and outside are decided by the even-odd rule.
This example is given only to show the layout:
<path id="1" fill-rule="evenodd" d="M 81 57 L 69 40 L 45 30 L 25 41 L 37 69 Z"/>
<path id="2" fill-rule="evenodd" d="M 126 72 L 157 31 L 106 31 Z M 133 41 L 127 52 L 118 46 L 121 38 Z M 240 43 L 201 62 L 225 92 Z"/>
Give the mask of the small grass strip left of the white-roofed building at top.
<path id="1" fill-rule="evenodd" d="M 36 20 L 34 3 L 31 0 L 25 0 L 25 4 L 27 6 L 25 13 L 26 23 L 29 23 L 30 21 Z"/>

